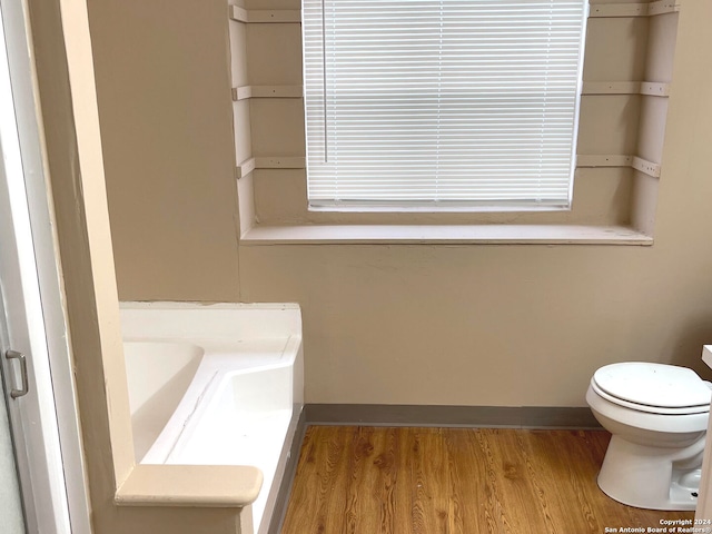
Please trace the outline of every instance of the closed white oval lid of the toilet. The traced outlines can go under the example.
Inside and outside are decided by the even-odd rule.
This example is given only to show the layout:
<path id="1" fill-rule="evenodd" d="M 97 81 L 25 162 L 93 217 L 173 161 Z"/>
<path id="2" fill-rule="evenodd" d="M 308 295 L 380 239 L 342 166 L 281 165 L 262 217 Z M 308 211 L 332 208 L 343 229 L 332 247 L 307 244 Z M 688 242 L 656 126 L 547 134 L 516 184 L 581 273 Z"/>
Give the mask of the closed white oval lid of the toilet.
<path id="1" fill-rule="evenodd" d="M 611 364 L 596 370 L 593 379 L 609 395 L 646 406 L 704 406 L 712 397 L 712 392 L 694 370 L 675 365 Z"/>

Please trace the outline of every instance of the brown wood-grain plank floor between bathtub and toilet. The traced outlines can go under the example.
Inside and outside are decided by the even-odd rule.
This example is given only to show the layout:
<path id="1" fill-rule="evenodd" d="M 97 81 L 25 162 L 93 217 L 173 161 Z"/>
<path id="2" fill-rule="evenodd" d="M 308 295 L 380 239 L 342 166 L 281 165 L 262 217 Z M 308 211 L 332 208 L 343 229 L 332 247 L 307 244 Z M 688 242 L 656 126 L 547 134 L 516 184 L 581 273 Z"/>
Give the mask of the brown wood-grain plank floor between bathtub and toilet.
<path id="1" fill-rule="evenodd" d="M 281 534 L 602 534 L 694 516 L 605 496 L 596 475 L 609 439 L 604 431 L 312 426 Z"/>

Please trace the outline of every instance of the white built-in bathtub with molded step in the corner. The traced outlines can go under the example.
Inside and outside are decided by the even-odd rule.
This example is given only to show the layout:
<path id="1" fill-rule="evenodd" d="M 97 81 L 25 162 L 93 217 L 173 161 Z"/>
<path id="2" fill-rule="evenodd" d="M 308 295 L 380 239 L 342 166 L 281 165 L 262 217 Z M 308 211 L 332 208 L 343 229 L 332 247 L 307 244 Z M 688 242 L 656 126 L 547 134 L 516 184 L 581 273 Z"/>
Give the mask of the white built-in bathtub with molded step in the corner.
<path id="1" fill-rule="evenodd" d="M 268 531 L 304 405 L 296 305 L 121 305 L 137 462 L 254 465 Z"/>

